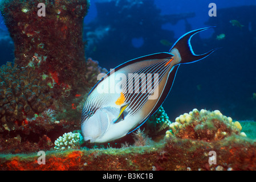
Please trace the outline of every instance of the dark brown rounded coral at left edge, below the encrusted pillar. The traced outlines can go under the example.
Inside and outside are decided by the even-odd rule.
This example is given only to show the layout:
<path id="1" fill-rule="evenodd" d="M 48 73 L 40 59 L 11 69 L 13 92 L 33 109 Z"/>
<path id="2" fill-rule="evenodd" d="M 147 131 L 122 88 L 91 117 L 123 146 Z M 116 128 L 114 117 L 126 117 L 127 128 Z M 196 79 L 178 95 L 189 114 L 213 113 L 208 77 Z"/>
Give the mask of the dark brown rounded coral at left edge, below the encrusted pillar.
<path id="1" fill-rule="evenodd" d="M 0 68 L 0 130 L 14 129 L 27 117 L 41 113 L 53 102 L 53 92 L 31 67 L 21 68 L 11 63 Z"/>

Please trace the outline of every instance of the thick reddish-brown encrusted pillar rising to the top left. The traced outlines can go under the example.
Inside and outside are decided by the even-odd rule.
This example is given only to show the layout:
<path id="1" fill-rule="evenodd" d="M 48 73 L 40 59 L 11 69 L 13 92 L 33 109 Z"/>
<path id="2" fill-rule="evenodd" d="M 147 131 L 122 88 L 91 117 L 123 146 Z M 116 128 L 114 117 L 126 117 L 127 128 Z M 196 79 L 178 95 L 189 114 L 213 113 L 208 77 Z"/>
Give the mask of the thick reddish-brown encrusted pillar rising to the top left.
<path id="1" fill-rule="evenodd" d="M 39 3 L 46 16 L 38 16 Z M 15 63 L 51 76 L 57 84 L 76 85 L 86 62 L 82 30 L 87 9 L 87 0 L 4 1 L 1 11 L 14 40 Z"/>

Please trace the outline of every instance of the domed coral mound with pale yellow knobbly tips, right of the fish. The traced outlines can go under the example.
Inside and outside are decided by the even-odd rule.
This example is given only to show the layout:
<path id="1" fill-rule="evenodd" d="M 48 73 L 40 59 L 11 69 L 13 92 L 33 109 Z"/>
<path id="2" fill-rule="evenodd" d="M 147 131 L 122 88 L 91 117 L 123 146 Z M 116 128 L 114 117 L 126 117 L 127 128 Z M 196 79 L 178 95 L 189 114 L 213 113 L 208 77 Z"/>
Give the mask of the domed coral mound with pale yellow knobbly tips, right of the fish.
<path id="1" fill-rule="evenodd" d="M 193 109 L 177 117 L 169 127 L 170 130 L 166 131 L 166 138 L 177 137 L 212 142 L 233 134 L 246 137 L 245 133 L 241 133 L 240 123 L 233 122 L 232 118 L 226 117 L 219 110 Z"/>

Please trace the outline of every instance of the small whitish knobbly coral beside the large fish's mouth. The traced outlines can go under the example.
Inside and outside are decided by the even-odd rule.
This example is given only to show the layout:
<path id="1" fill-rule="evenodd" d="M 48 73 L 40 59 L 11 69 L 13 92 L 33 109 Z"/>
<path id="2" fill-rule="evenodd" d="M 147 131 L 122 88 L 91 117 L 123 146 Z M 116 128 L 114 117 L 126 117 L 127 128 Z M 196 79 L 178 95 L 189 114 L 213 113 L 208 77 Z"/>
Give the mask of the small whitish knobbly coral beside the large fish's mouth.
<path id="1" fill-rule="evenodd" d="M 55 140 L 55 150 L 77 149 L 83 143 L 83 136 L 80 133 L 64 133 L 62 137 Z"/>

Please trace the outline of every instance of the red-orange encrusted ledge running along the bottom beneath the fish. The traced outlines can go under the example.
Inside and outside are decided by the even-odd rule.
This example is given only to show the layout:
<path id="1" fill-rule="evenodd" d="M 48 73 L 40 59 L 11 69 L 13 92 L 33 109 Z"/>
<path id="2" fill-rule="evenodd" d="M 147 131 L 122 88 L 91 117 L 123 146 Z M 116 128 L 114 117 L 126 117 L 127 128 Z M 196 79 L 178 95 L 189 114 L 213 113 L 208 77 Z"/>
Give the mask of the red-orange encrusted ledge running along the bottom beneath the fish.
<path id="1" fill-rule="evenodd" d="M 141 147 L 143 148 L 143 147 Z M 147 149 L 146 149 L 147 148 Z M 127 147 L 108 150 L 67 150 L 38 156 L 0 158 L 1 170 L 256 170 L 256 143 L 245 137 L 227 137 L 214 142 L 172 138 L 161 147 Z M 127 151 L 124 151 L 127 150 Z M 216 151 L 217 164 L 209 164 L 209 151 Z"/>

